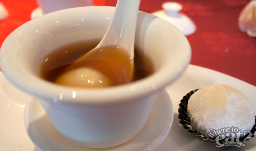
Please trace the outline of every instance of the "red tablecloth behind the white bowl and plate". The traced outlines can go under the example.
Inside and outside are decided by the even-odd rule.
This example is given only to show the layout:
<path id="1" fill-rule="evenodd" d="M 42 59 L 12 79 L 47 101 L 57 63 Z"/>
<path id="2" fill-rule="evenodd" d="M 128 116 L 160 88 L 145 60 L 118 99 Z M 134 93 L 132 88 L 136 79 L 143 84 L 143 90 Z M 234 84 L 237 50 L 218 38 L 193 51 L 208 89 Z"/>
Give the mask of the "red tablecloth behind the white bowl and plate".
<path id="1" fill-rule="evenodd" d="M 96 5 L 115 6 L 117 0 L 94 0 Z M 166 0 L 141 0 L 140 10 L 161 10 Z M 256 86 L 256 38 L 241 33 L 239 13 L 250 0 L 177 0 L 182 13 L 189 16 L 197 30 L 189 35 L 191 64 L 214 69 Z M 1 0 L 9 11 L 0 21 L 0 45 L 17 27 L 30 20 L 38 7 L 35 0 Z"/>

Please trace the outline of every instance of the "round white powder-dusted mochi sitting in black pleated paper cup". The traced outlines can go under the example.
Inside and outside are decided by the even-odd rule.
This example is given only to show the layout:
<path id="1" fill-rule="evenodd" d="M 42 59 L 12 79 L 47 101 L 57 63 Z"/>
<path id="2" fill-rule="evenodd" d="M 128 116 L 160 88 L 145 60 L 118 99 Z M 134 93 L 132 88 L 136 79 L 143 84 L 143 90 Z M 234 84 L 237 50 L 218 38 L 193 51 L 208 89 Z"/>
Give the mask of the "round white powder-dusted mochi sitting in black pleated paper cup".
<path id="1" fill-rule="evenodd" d="M 205 137 L 213 129 L 238 127 L 251 130 L 255 117 L 251 103 L 240 91 L 223 84 L 197 90 L 188 101 L 191 125 Z"/>

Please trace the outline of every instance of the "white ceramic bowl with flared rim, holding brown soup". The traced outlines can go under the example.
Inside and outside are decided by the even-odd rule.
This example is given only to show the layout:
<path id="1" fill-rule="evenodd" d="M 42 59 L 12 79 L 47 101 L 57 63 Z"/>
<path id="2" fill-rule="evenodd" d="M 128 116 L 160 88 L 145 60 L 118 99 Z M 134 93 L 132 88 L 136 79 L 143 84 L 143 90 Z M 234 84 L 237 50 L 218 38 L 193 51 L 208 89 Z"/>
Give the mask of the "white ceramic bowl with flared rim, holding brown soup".
<path id="1" fill-rule="evenodd" d="M 56 48 L 103 37 L 114 7 L 79 7 L 30 20 L 13 31 L 0 51 L 5 76 L 39 98 L 53 126 L 84 147 L 104 148 L 135 136 L 145 124 L 157 93 L 187 67 L 191 49 L 172 24 L 139 12 L 135 48 L 146 53 L 156 72 L 142 80 L 99 89 L 65 87 L 38 77 L 42 59 Z"/>

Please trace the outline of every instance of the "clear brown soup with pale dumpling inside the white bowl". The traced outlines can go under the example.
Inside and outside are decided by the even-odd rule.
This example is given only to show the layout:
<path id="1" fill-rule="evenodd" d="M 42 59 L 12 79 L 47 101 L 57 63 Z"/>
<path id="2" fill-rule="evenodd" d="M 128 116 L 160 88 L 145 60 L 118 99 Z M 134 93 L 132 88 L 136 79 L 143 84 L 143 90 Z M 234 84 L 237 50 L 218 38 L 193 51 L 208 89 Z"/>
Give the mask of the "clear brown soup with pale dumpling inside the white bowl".
<path id="1" fill-rule="evenodd" d="M 98 43 L 99 40 L 90 40 L 60 47 L 42 60 L 39 75 L 57 84 L 94 88 L 129 83 L 154 72 L 147 56 L 135 50 L 132 62 L 129 54 L 116 46 L 105 47 L 101 52 L 92 53 L 89 59 L 74 64 Z M 129 74 L 132 76 L 127 76 Z"/>

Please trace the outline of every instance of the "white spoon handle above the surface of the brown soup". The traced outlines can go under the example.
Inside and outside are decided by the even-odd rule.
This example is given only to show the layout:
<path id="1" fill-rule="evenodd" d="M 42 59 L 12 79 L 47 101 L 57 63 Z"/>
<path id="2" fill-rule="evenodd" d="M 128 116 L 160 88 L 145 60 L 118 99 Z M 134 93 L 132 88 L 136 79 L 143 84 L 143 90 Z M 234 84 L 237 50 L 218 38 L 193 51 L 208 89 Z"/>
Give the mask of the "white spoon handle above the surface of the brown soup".
<path id="1" fill-rule="evenodd" d="M 120 45 L 134 56 L 134 40 L 140 0 L 118 0 L 114 17 L 99 45 Z"/>

